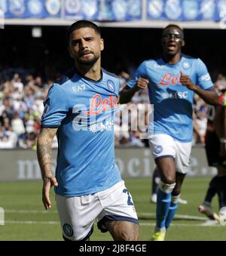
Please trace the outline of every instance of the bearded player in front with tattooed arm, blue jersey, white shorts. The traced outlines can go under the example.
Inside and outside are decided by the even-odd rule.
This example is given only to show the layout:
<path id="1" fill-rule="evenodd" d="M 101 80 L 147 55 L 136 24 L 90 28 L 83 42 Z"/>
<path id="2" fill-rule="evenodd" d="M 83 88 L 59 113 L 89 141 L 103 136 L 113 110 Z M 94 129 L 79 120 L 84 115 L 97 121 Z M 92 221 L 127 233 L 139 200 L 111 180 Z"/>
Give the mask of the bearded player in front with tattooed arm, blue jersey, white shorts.
<path id="1" fill-rule="evenodd" d="M 115 162 L 114 114 L 119 79 L 101 68 L 104 48 L 99 27 L 87 20 L 68 30 L 75 68 L 53 84 L 44 100 L 38 136 L 42 200 L 51 208 L 50 187 L 63 239 L 88 240 L 98 219 L 115 240 L 137 240 L 138 219 Z M 51 170 L 51 142 L 58 139 L 56 177 Z"/>

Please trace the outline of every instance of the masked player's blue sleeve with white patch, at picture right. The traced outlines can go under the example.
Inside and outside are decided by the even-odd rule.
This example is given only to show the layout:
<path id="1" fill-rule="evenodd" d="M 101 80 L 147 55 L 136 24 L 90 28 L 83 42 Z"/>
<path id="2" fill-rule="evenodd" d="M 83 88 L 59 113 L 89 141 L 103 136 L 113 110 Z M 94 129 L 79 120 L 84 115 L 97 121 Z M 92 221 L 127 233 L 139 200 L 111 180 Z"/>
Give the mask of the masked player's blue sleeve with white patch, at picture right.
<path id="1" fill-rule="evenodd" d="M 214 86 L 206 65 L 200 59 L 197 59 L 197 85 L 203 90 L 208 90 Z"/>

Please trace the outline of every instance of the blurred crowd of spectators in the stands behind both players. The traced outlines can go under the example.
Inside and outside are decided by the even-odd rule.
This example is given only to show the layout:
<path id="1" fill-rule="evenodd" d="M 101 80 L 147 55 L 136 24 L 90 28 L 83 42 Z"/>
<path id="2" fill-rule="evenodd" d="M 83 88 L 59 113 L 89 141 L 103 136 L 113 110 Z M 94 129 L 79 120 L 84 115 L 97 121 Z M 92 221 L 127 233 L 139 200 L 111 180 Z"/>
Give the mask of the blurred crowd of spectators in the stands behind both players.
<path id="1" fill-rule="evenodd" d="M 121 88 L 130 76 L 119 74 Z M 40 130 L 43 100 L 53 81 L 43 82 L 41 76 L 19 75 L 0 83 L 0 149 L 36 149 L 36 139 Z M 221 74 L 215 82 L 218 88 L 226 86 L 226 78 Z M 148 124 L 148 92 L 137 92 L 131 103 L 120 106 L 115 116 L 115 145 L 145 147 L 145 134 Z M 129 110 L 128 110 L 129 109 Z M 197 95 L 194 97 L 194 144 L 204 144 L 208 107 Z M 137 115 L 142 113 L 142 115 Z M 141 119 L 140 119 L 141 117 Z M 135 128 L 134 128 L 135 127 Z M 143 136 L 142 136 L 143 135 Z M 53 147 L 57 147 L 56 137 Z"/>

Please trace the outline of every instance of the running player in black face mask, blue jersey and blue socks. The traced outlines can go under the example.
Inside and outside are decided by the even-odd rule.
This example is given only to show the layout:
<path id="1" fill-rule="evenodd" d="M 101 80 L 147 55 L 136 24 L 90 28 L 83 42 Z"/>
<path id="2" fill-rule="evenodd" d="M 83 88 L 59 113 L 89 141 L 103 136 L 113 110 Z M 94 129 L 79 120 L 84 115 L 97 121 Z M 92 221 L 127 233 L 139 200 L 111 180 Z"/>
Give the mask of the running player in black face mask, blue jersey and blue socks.
<path id="1" fill-rule="evenodd" d="M 127 103 L 136 91 L 148 86 L 154 105 L 154 132 L 149 143 L 160 171 L 154 241 L 165 239 L 178 208 L 191 153 L 194 93 L 209 104 L 218 100 L 203 61 L 182 54 L 185 39 L 179 26 L 166 26 L 161 44 L 163 57 L 141 63 L 120 94 L 120 103 Z"/>

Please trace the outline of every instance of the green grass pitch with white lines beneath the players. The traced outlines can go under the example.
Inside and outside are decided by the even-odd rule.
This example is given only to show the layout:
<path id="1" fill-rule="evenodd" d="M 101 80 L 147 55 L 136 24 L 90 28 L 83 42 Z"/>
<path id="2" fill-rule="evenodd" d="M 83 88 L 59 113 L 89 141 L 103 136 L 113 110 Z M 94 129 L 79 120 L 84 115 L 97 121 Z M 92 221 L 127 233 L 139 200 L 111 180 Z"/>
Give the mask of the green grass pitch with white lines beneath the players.
<path id="1" fill-rule="evenodd" d="M 197 211 L 209 180 L 195 177 L 185 179 L 182 198 L 188 200 L 188 205 L 179 205 L 166 240 L 226 240 L 226 227 L 208 221 Z M 151 179 L 126 180 L 126 185 L 139 214 L 140 240 L 150 241 L 155 223 L 155 205 L 150 203 Z M 0 184 L 0 207 L 5 210 L 5 225 L 0 226 L 0 240 L 62 240 L 53 191 L 53 208 L 45 211 L 41 203 L 41 187 L 40 181 Z M 216 196 L 212 205 L 218 212 Z M 112 239 L 108 233 L 100 233 L 95 224 L 91 240 Z"/>

